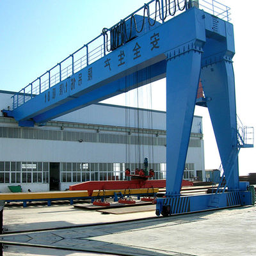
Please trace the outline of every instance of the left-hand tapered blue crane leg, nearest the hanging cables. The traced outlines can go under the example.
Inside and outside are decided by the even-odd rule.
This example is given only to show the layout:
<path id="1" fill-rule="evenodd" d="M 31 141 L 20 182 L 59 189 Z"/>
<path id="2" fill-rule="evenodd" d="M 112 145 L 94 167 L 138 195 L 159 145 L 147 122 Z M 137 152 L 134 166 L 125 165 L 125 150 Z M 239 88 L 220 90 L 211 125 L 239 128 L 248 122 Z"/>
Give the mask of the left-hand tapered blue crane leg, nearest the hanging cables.
<path id="1" fill-rule="evenodd" d="M 202 52 L 173 56 L 166 67 L 166 195 L 179 196 L 200 78 Z"/>

